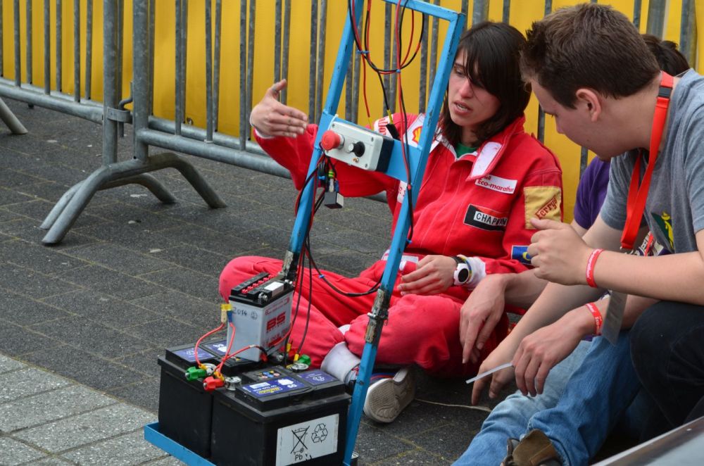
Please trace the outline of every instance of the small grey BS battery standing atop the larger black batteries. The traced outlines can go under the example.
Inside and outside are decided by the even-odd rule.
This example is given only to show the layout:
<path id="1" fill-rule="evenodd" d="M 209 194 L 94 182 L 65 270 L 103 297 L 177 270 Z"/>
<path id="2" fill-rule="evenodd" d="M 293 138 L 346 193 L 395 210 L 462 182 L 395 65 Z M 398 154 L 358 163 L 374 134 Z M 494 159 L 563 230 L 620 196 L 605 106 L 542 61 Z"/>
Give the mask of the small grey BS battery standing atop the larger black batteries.
<path id="1" fill-rule="evenodd" d="M 235 330 L 233 351 L 251 344 L 270 348 L 282 340 L 289 331 L 293 292 L 293 286 L 281 275 L 272 277 L 266 272 L 234 286 L 229 298 L 232 310 L 227 313 Z M 227 341 L 232 331 L 228 326 Z M 238 356 L 258 361 L 261 351 L 249 348 Z"/>

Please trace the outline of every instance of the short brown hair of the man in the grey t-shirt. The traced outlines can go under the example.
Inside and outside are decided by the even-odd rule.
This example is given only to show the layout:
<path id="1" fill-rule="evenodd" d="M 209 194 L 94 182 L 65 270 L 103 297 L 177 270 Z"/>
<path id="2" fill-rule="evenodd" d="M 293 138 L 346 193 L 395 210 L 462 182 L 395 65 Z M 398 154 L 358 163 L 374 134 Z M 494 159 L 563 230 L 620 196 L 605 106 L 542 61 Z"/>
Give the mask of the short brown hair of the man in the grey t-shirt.
<path id="1" fill-rule="evenodd" d="M 660 68 L 626 15 L 610 6 L 580 4 L 533 23 L 521 71 L 562 106 L 574 108 L 580 87 L 614 98 L 630 96 Z"/>

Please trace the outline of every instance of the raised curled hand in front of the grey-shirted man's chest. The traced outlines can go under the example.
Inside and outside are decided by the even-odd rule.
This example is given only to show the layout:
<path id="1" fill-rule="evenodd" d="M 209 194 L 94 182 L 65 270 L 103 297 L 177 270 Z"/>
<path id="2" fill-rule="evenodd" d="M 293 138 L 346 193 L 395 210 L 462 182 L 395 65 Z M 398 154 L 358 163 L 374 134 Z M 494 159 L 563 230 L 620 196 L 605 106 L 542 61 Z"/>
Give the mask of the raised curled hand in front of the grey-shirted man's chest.
<path id="1" fill-rule="evenodd" d="M 585 284 L 584 270 L 591 248 L 570 225 L 555 220 L 531 219 L 539 229 L 528 254 L 538 278 L 563 285 Z"/>

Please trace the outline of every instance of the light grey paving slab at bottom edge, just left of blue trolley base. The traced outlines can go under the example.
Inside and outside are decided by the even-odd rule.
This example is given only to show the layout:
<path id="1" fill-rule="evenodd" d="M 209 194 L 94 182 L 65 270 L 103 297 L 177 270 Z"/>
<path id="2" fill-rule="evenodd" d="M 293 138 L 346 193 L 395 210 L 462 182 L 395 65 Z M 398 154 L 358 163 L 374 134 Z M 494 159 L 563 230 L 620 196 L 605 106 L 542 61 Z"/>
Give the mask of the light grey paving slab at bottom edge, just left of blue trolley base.
<path id="1" fill-rule="evenodd" d="M 161 458 L 163 454 L 161 449 L 144 440 L 142 432 L 132 432 L 63 453 L 63 456 L 81 465 L 127 466 Z"/>

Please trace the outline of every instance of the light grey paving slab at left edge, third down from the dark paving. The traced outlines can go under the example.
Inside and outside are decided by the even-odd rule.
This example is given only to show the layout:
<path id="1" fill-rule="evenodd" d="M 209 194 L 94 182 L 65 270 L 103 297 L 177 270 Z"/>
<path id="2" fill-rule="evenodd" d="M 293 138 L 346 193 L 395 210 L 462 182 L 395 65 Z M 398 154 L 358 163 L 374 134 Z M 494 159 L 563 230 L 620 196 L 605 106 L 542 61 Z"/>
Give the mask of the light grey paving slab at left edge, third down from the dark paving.
<path id="1" fill-rule="evenodd" d="M 80 385 L 65 386 L 0 405 L 0 430 L 8 433 L 117 403 Z"/>

